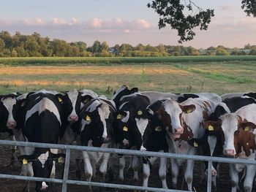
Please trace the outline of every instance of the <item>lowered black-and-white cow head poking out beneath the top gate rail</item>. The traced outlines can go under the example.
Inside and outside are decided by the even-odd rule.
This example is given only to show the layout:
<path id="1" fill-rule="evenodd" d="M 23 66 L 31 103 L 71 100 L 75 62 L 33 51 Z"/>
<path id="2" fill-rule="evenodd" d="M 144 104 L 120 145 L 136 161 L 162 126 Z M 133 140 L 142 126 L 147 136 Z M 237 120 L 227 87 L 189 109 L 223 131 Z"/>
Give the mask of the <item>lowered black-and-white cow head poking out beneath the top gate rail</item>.
<path id="1" fill-rule="evenodd" d="M 37 150 L 32 155 L 21 155 L 19 160 L 23 164 L 31 163 L 34 177 L 50 178 L 52 170 L 55 170 L 55 162 L 63 163 L 64 153 L 54 154 L 50 150 Z M 54 174 L 54 173 L 53 173 Z M 48 183 L 36 182 L 36 191 L 48 191 Z"/>

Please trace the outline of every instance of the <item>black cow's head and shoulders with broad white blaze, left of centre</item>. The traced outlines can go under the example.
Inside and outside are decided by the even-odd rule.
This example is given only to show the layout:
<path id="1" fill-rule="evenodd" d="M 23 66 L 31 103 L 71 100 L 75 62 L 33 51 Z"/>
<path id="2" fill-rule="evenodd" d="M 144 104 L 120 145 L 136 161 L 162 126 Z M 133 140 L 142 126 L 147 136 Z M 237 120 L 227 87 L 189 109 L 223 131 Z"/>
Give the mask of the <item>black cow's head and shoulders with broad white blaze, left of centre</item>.
<path id="1" fill-rule="evenodd" d="M 83 145 L 92 140 L 94 146 L 111 142 L 113 108 L 101 99 L 93 99 L 80 112 L 80 132 Z"/>

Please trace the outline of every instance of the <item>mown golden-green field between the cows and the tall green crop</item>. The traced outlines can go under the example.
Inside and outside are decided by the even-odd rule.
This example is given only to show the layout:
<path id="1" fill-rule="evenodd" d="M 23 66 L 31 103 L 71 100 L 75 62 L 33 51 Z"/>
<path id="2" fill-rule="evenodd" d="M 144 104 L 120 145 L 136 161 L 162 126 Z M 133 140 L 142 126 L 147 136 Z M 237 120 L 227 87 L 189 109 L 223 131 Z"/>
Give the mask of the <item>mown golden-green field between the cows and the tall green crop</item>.
<path id="1" fill-rule="evenodd" d="M 175 93 L 256 91 L 256 61 L 110 66 L 0 65 L 0 94 L 42 88 L 56 91 L 89 88 L 111 96 L 121 85 L 136 86 L 141 91 Z"/>

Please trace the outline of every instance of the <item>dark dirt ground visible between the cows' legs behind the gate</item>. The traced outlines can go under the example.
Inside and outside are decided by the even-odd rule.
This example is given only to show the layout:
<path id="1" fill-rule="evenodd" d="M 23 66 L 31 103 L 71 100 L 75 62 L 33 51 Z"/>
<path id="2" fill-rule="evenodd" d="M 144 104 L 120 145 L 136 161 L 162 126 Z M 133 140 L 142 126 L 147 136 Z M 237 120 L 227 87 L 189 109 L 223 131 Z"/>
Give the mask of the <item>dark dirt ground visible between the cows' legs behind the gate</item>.
<path id="1" fill-rule="evenodd" d="M 69 179 L 77 180 L 75 177 L 75 159 L 72 158 L 73 152 L 71 153 L 71 163 L 69 167 Z M 20 173 L 20 167 L 21 163 L 15 162 L 15 164 L 8 166 L 10 164 L 10 158 L 11 158 L 11 150 L 8 146 L 0 146 L 0 173 L 1 174 L 19 174 Z M 143 182 L 143 174 L 142 174 L 142 168 L 140 168 L 139 177 L 140 181 L 138 183 L 135 183 L 133 178 L 133 172 L 132 169 L 127 170 L 128 168 L 128 162 L 127 166 L 124 172 L 124 181 L 118 180 L 118 163 L 117 158 L 114 161 L 114 181 L 113 183 L 119 183 L 119 184 L 127 184 L 127 185 L 141 185 Z M 197 192 L 204 192 L 206 191 L 207 186 L 207 178 L 201 177 L 203 174 L 200 171 L 200 167 L 202 164 L 199 162 L 196 162 L 195 169 L 194 169 L 194 178 L 193 178 L 193 188 Z M 56 167 L 56 177 L 61 178 L 61 173 L 63 172 L 63 165 L 58 164 Z M 187 189 L 186 182 L 183 180 L 183 167 L 180 169 L 180 174 L 178 177 L 178 189 L 183 188 L 183 190 Z M 230 180 L 229 180 L 229 171 L 228 171 L 228 165 L 227 164 L 221 164 L 219 168 L 219 177 L 217 179 L 217 191 L 218 192 L 227 192 L 230 191 Z M 98 179 L 97 179 L 98 178 Z M 84 180 L 84 172 L 82 169 L 82 180 Z M 108 177 L 106 178 L 108 180 Z M 93 178 L 92 181 L 101 182 L 99 180 L 99 174 L 97 174 L 96 178 Z M 21 180 L 6 180 L 6 179 L 0 179 L 0 192 L 12 192 L 12 191 L 22 191 L 23 186 L 25 185 L 25 181 Z M 167 173 L 167 185 L 169 188 L 171 188 L 171 173 Z M 34 191 L 34 182 L 31 182 L 30 185 L 30 191 Z M 155 164 L 151 167 L 151 176 L 149 178 L 149 186 L 150 187 L 156 187 L 161 188 L 162 183 L 158 176 L 158 166 Z M 182 187 L 183 186 L 183 187 Z M 61 191 L 61 185 L 56 184 L 56 191 Z M 81 185 L 68 185 L 69 192 L 80 192 L 80 191 L 88 191 L 88 188 L 86 186 Z M 94 187 L 93 191 L 99 191 L 99 188 Z M 108 190 L 108 191 L 114 191 Z M 121 191 L 121 190 L 118 190 Z M 253 191 L 256 191 L 256 188 L 254 186 Z"/>

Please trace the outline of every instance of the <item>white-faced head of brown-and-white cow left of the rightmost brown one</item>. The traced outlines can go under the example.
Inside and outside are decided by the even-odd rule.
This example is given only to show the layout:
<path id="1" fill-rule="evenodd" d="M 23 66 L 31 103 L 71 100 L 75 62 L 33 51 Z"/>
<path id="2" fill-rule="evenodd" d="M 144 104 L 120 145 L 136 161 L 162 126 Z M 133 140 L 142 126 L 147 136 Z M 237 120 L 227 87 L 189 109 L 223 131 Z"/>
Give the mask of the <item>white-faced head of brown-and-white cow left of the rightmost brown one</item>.
<path id="1" fill-rule="evenodd" d="M 158 117 L 162 120 L 163 125 L 167 128 L 167 134 L 174 139 L 179 139 L 184 133 L 182 124 L 182 115 L 195 110 L 195 105 L 181 105 L 177 101 L 167 99 L 162 103 L 162 107 L 157 112 Z"/>

